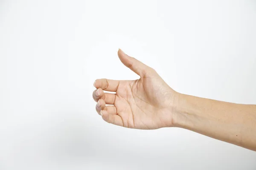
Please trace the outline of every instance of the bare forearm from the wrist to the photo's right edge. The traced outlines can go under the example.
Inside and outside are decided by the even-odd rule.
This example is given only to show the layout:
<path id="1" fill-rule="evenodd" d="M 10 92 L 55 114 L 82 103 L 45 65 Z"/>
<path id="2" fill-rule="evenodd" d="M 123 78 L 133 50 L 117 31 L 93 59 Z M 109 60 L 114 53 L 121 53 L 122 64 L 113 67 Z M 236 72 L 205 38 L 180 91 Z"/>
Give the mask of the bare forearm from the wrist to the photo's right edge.
<path id="1" fill-rule="evenodd" d="M 256 150 L 256 105 L 179 94 L 173 125 Z"/>

